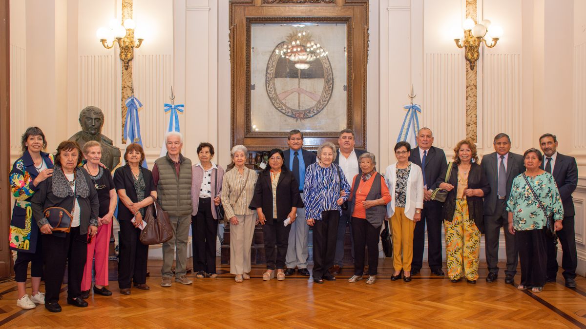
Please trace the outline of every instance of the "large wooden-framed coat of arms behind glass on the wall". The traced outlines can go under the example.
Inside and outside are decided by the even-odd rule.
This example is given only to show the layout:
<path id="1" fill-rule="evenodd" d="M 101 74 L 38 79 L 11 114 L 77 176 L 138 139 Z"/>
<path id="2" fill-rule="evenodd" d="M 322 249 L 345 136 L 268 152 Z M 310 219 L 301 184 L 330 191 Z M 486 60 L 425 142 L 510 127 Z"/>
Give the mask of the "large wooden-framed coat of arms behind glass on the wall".
<path id="1" fill-rule="evenodd" d="M 366 146 L 367 0 L 231 0 L 231 145 Z"/>

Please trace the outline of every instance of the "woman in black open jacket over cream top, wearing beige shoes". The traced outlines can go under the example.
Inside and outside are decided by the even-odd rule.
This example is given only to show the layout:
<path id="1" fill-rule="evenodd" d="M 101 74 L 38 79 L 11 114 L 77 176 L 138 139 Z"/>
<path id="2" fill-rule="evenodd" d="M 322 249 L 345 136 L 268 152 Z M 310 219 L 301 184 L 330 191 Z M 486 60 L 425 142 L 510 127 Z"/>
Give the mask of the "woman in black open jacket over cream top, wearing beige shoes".
<path id="1" fill-rule="evenodd" d="M 275 277 L 275 267 L 277 280 L 285 280 L 290 224 L 295 221 L 297 208 L 304 207 L 299 194 L 299 183 L 293 173 L 283 165 L 283 158 L 282 150 L 271 150 L 268 155 L 269 166 L 258 177 L 254 197 L 250 202 L 250 208 L 256 209 L 258 221 L 264 225 L 264 250 L 267 258 L 267 272 L 263 274 L 265 281 Z"/>

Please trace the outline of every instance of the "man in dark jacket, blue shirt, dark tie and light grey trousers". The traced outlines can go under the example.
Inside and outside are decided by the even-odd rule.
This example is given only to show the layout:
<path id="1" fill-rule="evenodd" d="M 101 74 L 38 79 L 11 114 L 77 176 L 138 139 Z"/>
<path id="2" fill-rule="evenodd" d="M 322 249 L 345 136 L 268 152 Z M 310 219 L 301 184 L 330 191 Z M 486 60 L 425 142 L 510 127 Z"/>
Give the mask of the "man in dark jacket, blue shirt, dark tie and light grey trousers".
<path id="1" fill-rule="evenodd" d="M 301 148 L 303 146 L 303 133 L 297 129 L 289 132 L 287 145 L 289 145 L 289 149 L 283 152 L 285 167 L 295 176 L 295 180 L 299 183 L 301 199 L 305 201 L 303 194 L 305 170 L 309 165 L 315 163 L 315 153 Z M 289 231 L 285 275 L 292 275 L 297 267 L 299 274 L 309 276 L 307 269 L 308 239 L 309 225 L 305 222 L 305 208 L 297 208 L 297 220 L 291 224 L 291 231 Z"/>

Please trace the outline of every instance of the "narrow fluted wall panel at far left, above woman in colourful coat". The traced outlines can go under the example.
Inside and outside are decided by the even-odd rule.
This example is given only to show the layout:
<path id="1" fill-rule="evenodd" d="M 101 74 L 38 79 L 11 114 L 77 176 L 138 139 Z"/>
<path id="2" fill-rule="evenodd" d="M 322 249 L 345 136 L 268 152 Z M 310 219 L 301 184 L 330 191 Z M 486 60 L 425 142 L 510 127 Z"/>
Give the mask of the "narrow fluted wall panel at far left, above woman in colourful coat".
<path id="1" fill-rule="evenodd" d="M 21 134 L 26 122 L 26 49 L 10 45 L 10 152 L 22 154 Z M 18 157 L 17 156 L 17 157 Z"/>

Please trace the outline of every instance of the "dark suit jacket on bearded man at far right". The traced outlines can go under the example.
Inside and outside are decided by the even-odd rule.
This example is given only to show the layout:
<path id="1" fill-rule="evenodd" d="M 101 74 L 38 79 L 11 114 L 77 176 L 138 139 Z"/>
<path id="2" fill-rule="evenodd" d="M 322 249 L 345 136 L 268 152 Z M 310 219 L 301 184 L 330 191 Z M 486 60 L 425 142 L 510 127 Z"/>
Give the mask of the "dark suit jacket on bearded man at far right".
<path id="1" fill-rule="evenodd" d="M 541 169 L 544 169 L 546 161 L 546 157 L 543 156 Z M 552 174 L 560 191 L 561 203 L 564 205 L 564 217 L 574 216 L 576 213 L 572 193 L 578 186 L 578 165 L 575 157 L 557 153 Z"/>

